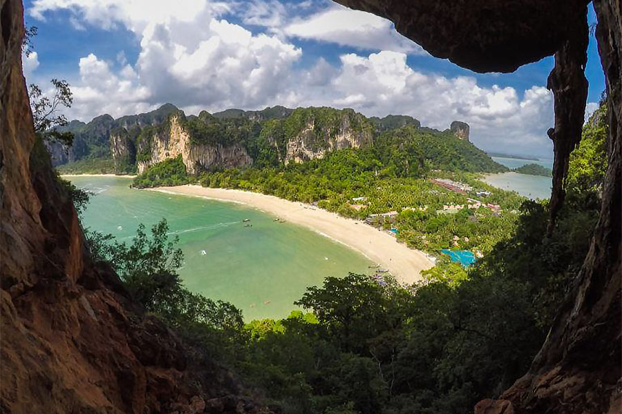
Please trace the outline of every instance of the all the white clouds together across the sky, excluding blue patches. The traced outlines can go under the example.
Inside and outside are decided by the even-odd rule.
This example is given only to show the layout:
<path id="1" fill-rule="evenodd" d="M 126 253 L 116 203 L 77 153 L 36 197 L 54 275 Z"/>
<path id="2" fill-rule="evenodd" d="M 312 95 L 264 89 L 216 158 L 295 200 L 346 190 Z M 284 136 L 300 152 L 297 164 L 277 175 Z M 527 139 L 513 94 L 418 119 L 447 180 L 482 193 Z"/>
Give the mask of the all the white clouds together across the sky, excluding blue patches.
<path id="1" fill-rule="evenodd" d="M 187 113 L 276 104 L 336 106 L 368 116 L 411 115 L 424 126 L 441 130 L 453 120 L 466 121 L 472 141 L 484 149 L 547 155 L 552 148 L 546 135 L 553 124 L 552 95 L 545 88 L 484 87 L 474 77 L 415 70 L 406 63 L 406 54 L 418 46 L 397 37 L 388 21 L 371 14 L 331 8 L 296 21 L 283 32 L 393 51 L 346 54 L 337 65 L 319 58 L 309 68 L 298 68 L 302 50 L 288 37 L 253 34 L 220 19 L 229 7 L 223 3 L 180 0 L 174 8 L 166 4 L 35 1 L 32 15 L 44 17 L 46 10 L 65 8 L 80 21 L 102 28 L 123 24 L 140 39 L 133 66 L 122 53 L 115 63 L 94 54 L 80 59 L 79 79 L 70 79 L 75 95 L 70 117 L 88 121 L 106 112 L 118 117 L 165 102 Z M 253 4 L 245 17 L 252 24 L 269 26 L 284 18 L 282 10 L 271 14 L 260 3 Z M 36 68 L 36 55 L 28 64 Z"/>

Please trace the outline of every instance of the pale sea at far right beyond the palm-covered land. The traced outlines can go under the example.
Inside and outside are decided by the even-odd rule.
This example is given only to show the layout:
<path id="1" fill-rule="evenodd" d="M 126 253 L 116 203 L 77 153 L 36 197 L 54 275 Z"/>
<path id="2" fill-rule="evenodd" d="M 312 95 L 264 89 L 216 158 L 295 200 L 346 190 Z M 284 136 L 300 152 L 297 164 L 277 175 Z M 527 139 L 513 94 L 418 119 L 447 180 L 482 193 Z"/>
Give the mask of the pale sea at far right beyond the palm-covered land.
<path id="1" fill-rule="evenodd" d="M 518 168 L 525 164 L 539 164 L 543 167 L 553 168 L 553 159 L 516 159 L 504 157 L 492 157 L 494 161 L 508 168 Z M 551 177 L 541 175 L 519 174 L 518 172 L 502 172 L 501 174 L 488 174 L 484 176 L 491 186 L 503 190 L 513 190 L 516 193 L 530 199 L 549 199 L 551 197 Z"/>

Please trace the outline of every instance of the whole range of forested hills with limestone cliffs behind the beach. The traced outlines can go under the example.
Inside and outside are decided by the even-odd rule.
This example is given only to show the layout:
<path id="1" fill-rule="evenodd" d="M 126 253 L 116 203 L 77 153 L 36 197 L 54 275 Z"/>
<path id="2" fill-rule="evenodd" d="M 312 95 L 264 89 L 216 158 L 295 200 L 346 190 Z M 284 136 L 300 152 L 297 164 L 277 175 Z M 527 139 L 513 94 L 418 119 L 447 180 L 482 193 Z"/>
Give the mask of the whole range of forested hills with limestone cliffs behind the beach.
<path id="1" fill-rule="evenodd" d="M 459 128 L 455 126 L 458 125 Z M 157 110 L 88 124 L 72 121 L 71 148 L 48 144 L 62 172 L 142 172 L 181 156 L 188 172 L 221 168 L 276 167 L 323 158 L 334 150 L 377 148 L 379 157 L 423 168 L 500 172 L 507 170 L 469 142 L 469 126 L 421 127 L 406 115 L 368 118 L 352 109 L 274 106 L 229 109 L 186 116 L 170 103 Z"/>

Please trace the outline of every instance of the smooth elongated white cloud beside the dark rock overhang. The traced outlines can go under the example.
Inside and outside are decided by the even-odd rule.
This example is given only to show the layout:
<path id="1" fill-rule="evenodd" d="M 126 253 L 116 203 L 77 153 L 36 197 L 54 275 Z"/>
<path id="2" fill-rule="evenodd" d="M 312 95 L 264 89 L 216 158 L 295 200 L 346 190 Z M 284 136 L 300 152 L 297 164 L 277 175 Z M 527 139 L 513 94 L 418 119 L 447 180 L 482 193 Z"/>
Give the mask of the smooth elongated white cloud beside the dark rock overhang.
<path id="1" fill-rule="evenodd" d="M 360 50 L 425 53 L 416 43 L 397 33 L 387 19 L 343 6 L 296 19 L 285 26 L 283 32 L 291 37 L 337 43 Z"/>

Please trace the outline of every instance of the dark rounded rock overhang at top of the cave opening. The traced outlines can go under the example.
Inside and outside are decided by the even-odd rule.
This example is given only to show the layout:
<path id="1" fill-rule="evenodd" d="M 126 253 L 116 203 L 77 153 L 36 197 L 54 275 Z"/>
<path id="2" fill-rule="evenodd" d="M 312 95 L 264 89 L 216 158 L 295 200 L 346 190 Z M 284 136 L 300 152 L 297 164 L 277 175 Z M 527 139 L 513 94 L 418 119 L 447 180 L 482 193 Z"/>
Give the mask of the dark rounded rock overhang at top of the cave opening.
<path id="1" fill-rule="evenodd" d="M 386 17 L 435 57 L 475 72 L 513 72 L 553 55 L 589 1 L 336 0 Z"/>

